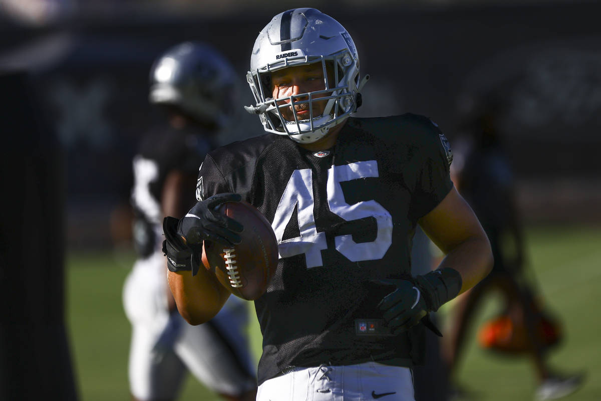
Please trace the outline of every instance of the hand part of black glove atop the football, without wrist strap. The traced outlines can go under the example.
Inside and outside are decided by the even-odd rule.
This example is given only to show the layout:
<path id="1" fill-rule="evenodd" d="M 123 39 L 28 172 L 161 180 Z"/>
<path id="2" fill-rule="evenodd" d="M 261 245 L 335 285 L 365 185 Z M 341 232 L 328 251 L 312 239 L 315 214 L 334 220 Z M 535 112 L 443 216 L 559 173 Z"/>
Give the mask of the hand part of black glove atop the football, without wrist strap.
<path id="1" fill-rule="evenodd" d="M 199 201 L 180 219 L 177 233 L 186 239 L 186 245 L 191 248 L 202 245 L 206 239 L 230 247 L 240 243 L 242 238 L 238 234 L 244 229 L 242 224 L 216 210 L 223 203 L 240 200 L 240 194 L 226 193 Z"/>

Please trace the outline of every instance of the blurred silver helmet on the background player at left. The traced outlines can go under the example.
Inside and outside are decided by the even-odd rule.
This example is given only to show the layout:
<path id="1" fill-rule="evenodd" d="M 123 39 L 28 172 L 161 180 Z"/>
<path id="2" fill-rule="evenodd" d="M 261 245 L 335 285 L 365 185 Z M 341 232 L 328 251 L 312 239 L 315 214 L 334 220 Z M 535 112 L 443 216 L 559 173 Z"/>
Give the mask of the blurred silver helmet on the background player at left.
<path id="1" fill-rule="evenodd" d="M 234 115 L 236 97 L 233 67 L 207 44 L 177 44 L 150 70 L 150 102 L 174 106 L 201 123 L 226 126 Z"/>

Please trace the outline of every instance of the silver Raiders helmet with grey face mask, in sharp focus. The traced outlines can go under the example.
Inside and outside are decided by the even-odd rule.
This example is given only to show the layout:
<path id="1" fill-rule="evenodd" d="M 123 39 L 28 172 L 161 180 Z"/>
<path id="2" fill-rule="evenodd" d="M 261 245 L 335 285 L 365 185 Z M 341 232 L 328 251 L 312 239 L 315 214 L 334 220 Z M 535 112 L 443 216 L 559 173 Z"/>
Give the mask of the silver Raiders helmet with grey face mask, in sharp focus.
<path id="1" fill-rule="evenodd" d="M 313 63 L 322 65 L 324 90 L 272 98 L 272 72 Z M 315 8 L 294 8 L 273 17 L 255 41 L 246 81 L 256 104 L 245 108 L 259 115 L 267 132 L 311 143 L 323 138 L 356 110 L 359 90 L 368 78 L 359 83 L 355 43 L 337 20 Z M 314 115 L 311 106 L 316 96 L 327 100 L 321 115 Z M 309 103 L 308 118 L 300 119 L 297 115 L 294 106 L 301 103 Z M 282 108 L 290 108 L 294 120 L 286 120 Z"/>

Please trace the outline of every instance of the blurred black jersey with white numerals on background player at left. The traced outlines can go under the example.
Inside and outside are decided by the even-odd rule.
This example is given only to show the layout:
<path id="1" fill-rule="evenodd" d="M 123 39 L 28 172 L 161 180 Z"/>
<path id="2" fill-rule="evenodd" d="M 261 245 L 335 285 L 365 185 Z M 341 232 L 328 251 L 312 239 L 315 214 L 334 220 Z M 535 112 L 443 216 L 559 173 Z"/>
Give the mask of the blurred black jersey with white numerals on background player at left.
<path id="1" fill-rule="evenodd" d="M 178 170 L 196 175 L 212 148 L 212 142 L 195 130 L 165 128 L 144 136 L 132 162 L 130 198 L 135 215 L 134 242 L 140 256 L 149 256 L 162 240 L 160 201 L 167 174 Z"/>

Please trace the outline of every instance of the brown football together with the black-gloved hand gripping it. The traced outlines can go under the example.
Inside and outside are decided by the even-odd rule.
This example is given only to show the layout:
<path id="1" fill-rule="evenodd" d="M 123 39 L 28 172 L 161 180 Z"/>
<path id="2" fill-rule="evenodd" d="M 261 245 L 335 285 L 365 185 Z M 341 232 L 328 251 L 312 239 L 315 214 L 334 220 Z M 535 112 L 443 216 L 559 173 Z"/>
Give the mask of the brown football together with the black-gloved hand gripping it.
<path id="1" fill-rule="evenodd" d="M 269 221 L 239 194 L 199 201 L 180 220 L 163 220 L 163 253 L 169 271 L 200 266 L 215 274 L 233 295 L 257 299 L 267 290 L 278 265 L 278 242 Z"/>

